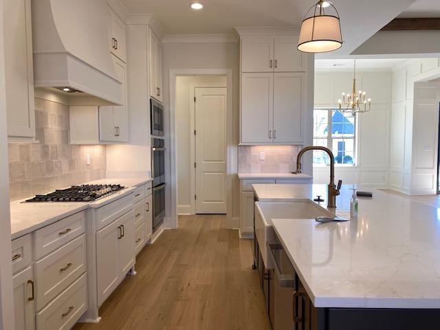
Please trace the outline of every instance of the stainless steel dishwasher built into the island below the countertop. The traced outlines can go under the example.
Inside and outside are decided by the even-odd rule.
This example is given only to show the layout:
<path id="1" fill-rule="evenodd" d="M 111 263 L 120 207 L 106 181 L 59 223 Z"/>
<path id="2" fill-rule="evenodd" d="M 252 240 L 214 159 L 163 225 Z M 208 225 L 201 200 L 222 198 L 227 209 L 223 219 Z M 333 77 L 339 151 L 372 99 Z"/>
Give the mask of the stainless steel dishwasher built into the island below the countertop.
<path id="1" fill-rule="evenodd" d="M 296 274 L 281 243 L 269 243 L 270 258 L 274 269 L 270 270 L 269 282 L 269 318 L 272 330 L 295 329 L 293 316 L 296 291 Z"/>

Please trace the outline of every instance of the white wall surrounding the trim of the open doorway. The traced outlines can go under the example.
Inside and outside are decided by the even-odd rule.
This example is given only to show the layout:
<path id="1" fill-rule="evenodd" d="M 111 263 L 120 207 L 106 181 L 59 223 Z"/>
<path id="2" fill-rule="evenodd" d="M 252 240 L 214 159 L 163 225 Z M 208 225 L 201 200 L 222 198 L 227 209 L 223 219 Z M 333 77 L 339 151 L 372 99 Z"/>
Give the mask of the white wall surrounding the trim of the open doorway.
<path id="1" fill-rule="evenodd" d="M 165 121 L 166 136 L 169 136 L 169 74 L 170 69 L 232 69 L 232 144 L 228 148 L 232 148 L 232 173 L 236 173 L 237 164 L 237 144 L 239 142 L 239 43 L 236 42 L 219 42 L 219 43 L 195 43 L 195 42 L 170 42 L 163 44 L 163 87 L 164 87 L 164 104 L 165 104 Z M 166 181 L 168 189 L 166 191 L 166 219 L 165 225 L 169 228 L 175 226 L 174 219 L 170 219 L 171 212 L 171 195 L 170 195 L 170 141 L 166 140 Z M 239 217 L 239 181 L 236 175 L 232 177 L 232 222 L 228 223 L 228 227 L 238 227 Z M 235 223 L 236 222 L 236 223 Z"/>

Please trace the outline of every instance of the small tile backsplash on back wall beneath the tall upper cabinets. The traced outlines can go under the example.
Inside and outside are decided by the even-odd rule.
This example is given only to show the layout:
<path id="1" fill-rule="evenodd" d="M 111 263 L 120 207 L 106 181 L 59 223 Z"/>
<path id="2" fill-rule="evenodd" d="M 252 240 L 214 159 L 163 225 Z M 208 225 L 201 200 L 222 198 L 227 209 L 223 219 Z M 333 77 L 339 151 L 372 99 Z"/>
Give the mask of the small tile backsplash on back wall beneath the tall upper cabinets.
<path id="1" fill-rule="evenodd" d="M 301 146 L 239 146 L 239 173 L 289 173 L 296 170 Z M 265 159 L 260 159 L 260 153 Z"/>

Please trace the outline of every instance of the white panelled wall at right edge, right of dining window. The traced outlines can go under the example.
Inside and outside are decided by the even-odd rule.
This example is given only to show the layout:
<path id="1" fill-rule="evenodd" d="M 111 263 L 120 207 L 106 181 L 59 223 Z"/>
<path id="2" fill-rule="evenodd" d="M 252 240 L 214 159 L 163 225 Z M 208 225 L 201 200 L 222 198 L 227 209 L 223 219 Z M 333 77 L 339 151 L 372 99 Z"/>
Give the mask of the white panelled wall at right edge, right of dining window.
<path id="1" fill-rule="evenodd" d="M 437 183 L 439 58 L 411 59 L 393 70 L 389 186 L 434 194 Z"/>

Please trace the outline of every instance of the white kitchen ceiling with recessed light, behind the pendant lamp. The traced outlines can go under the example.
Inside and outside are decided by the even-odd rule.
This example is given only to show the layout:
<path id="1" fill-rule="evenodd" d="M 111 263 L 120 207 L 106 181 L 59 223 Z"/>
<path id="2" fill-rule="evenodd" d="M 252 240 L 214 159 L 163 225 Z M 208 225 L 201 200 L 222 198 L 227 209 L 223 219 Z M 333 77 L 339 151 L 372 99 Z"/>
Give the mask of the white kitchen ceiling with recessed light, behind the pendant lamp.
<path id="1" fill-rule="evenodd" d="M 165 34 L 230 34 L 236 26 L 300 25 L 317 0 L 121 0 L 131 13 L 154 14 Z M 334 0 L 341 17 L 344 45 L 324 57 L 342 57 L 397 17 L 415 0 Z M 437 0 L 432 0 L 437 1 Z"/>

